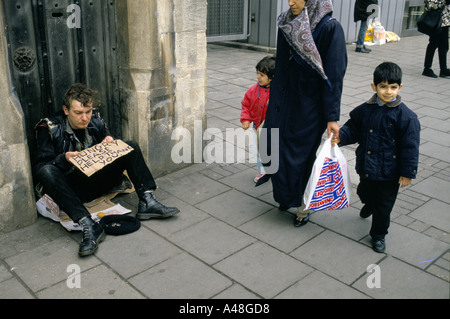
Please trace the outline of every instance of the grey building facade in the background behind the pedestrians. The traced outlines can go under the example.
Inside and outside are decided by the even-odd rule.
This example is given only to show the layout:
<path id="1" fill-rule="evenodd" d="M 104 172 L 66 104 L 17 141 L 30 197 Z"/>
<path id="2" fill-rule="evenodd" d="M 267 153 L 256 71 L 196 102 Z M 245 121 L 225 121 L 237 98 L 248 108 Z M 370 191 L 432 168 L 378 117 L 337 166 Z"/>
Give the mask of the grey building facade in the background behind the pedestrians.
<path id="1" fill-rule="evenodd" d="M 416 22 L 423 0 L 379 0 L 374 17 L 400 37 L 418 34 Z M 359 23 L 353 21 L 355 0 L 333 0 L 333 16 L 342 24 L 346 41 L 356 41 Z M 289 9 L 287 0 L 209 0 L 208 42 L 237 40 L 276 47 L 277 17 Z M 232 19 L 230 19 L 232 17 Z"/>

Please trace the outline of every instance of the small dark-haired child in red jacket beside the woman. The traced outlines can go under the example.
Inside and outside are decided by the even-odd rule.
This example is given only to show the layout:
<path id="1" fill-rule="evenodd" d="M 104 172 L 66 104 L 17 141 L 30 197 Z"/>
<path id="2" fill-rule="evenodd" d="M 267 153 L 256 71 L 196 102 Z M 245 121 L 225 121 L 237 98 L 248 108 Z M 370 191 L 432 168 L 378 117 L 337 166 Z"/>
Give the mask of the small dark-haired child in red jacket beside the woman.
<path id="1" fill-rule="evenodd" d="M 261 163 L 261 158 L 258 154 L 256 130 L 266 118 L 267 104 L 269 102 L 270 82 L 272 81 L 275 73 L 275 57 L 266 56 L 259 61 L 256 65 L 256 72 L 258 83 L 247 90 L 241 102 L 242 128 L 247 130 L 250 127 L 250 123 L 253 122 L 252 128 L 255 133 L 253 152 L 258 165 L 258 174 L 254 179 L 255 183 L 265 174 L 264 167 Z"/>

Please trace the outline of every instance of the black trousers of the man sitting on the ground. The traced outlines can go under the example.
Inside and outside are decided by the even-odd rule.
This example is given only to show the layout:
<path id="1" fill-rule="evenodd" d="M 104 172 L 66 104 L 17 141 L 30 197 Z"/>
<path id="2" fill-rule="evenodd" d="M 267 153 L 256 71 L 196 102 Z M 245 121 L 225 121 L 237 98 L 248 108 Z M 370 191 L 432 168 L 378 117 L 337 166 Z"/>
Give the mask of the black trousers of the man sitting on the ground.
<path id="1" fill-rule="evenodd" d="M 79 170 L 64 174 L 54 165 L 42 167 L 37 177 L 56 204 L 74 221 L 90 216 L 83 203 L 90 202 L 108 193 L 120 184 L 122 173 L 127 171 L 138 196 L 156 188 L 155 180 L 142 156 L 139 145 L 126 141 L 134 150 L 87 177 Z"/>

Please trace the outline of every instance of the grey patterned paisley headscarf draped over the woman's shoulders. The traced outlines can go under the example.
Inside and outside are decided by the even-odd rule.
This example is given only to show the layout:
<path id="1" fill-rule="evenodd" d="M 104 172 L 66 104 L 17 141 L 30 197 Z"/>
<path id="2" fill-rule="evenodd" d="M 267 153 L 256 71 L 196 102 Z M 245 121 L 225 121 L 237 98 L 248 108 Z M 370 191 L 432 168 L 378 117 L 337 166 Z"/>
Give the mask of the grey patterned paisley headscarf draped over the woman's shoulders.
<path id="1" fill-rule="evenodd" d="M 331 12 L 333 12 L 332 0 L 307 0 L 305 8 L 298 16 L 289 9 L 278 17 L 278 27 L 283 31 L 292 49 L 324 80 L 328 77 L 312 34 L 322 18 Z"/>

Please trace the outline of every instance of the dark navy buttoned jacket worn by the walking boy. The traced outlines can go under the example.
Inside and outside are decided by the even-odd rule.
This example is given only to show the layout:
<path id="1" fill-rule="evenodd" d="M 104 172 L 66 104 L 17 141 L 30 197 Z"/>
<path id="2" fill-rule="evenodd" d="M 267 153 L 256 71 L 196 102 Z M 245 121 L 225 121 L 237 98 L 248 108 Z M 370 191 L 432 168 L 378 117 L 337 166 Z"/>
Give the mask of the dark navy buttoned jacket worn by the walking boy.
<path id="1" fill-rule="evenodd" d="M 350 112 L 339 137 L 340 146 L 359 144 L 356 172 L 361 178 L 384 181 L 416 177 L 420 123 L 400 96 L 380 106 L 375 94 Z"/>

